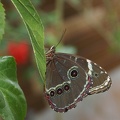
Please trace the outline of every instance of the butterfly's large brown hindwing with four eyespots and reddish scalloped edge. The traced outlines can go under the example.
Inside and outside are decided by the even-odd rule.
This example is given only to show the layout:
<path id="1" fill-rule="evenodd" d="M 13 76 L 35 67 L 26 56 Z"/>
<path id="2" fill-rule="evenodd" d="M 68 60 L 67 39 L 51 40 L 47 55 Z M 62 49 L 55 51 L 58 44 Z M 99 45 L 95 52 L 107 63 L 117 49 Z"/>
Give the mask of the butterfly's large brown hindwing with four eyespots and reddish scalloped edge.
<path id="1" fill-rule="evenodd" d="M 91 87 L 92 80 L 87 72 L 65 54 L 55 54 L 47 62 L 45 95 L 57 112 L 67 112 L 82 101 Z"/>

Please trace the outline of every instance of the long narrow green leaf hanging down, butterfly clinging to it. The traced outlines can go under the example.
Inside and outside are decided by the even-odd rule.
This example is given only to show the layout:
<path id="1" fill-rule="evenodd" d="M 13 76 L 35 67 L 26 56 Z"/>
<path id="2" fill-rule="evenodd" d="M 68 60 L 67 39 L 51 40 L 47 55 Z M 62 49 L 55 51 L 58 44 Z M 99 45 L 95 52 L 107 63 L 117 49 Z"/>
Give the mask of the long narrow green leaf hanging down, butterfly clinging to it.
<path id="1" fill-rule="evenodd" d="M 38 13 L 29 0 L 11 0 L 26 25 L 31 38 L 38 70 L 42 82 L 45 80 L 46 60 L 44 51 L 44 30 Z"/>

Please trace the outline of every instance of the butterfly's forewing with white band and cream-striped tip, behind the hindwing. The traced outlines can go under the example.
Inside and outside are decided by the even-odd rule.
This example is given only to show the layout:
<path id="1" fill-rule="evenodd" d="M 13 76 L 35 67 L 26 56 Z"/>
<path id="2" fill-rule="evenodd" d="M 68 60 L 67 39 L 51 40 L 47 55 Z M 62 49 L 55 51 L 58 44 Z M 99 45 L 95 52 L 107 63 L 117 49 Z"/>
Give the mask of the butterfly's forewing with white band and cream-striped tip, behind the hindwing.
<path id="1" fill-rule="evenodd" d="M 59 53 L 59 54 L 64 56 L 64 58 L 74 60 L 92 78 L 93 85 L 92 85 L 92 88 L 89 89 L 89 92 L 88 92 L 89 95 L 92 95 L 95 93 L 96 94 L 101 93 L 110 88 L 110 86 L 112 84 L 111 78 L 102 67 L 100 67 L 96 63 L 92 62 L 91 60 L 85 59 L 80 56 L 75 56 L 75 55 L 69 56 L 64 53 Z"/>

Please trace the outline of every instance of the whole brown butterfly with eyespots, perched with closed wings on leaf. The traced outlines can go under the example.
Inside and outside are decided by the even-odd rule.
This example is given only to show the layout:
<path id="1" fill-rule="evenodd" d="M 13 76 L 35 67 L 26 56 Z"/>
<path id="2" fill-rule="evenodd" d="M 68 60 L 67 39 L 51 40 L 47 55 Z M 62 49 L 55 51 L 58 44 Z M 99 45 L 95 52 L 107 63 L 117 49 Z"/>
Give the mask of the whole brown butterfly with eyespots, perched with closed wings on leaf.
<path id="1" fill-rule="evenodd" d="M 45 97 L 52 109 L 64 113 L 92 94 L 105 92 L 111 86 L 107 72 L 81 56 L 56 53 L 52 46 L 46 53 Z"/>

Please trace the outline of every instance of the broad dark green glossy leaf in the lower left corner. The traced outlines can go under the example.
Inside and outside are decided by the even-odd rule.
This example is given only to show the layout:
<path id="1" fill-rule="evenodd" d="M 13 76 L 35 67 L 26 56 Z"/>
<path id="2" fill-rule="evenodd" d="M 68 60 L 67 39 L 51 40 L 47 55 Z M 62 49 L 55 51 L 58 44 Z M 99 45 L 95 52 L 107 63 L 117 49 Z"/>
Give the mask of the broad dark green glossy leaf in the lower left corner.
<path id="1" fill-rule="evenodd" d="M 0 116 L 3 120 L 24 120 L 26 100 L 16 79 L 13 57 L 0 57 Z"/>

